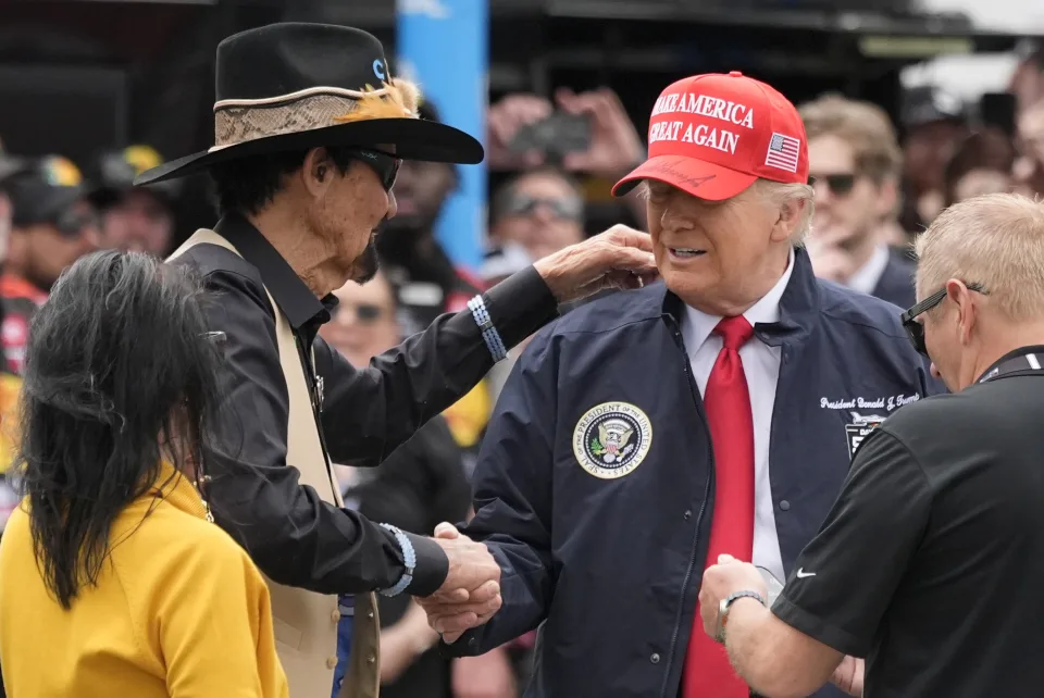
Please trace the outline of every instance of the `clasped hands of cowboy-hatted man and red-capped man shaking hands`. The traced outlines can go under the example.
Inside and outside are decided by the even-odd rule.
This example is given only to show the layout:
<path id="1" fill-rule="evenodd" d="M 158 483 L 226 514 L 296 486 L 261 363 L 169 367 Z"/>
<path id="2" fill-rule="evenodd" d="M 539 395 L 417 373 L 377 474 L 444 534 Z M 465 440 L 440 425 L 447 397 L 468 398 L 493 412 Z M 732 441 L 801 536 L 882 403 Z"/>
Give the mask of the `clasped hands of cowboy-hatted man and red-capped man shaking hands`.
<path id="1" fill-rule="evenodd" d="M 446 643 L 455 643 L 500 610 L 500 566 L 485 545 L 461 535 L 452 524 L 439 524 L 434 540 L 449 558 L 449 573 L 442 588 L 417 601 L 432 628 Z"/>

